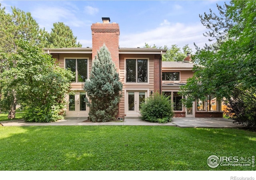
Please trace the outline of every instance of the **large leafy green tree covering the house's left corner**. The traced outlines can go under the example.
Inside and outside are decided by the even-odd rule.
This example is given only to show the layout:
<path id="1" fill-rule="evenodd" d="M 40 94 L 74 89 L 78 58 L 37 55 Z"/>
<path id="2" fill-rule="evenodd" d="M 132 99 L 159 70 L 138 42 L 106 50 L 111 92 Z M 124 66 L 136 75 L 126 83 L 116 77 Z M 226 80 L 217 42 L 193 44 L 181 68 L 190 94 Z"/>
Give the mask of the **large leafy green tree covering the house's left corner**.
<path id="1" fill-rule="evenodd" d="M 17 44 L 21 49 L 9 57 L 15 60 L 16 65 L 1 74 L 0 87 L 6 88 L 6 92 L 15 89 L 16 97 L 24 107 L 25 121 L 58 120 L 61 118 L 60 109 L 66 104 L 65 96 L 71 79 L 74 78 L 72 72 L 60 68 L 40 48 L 23 41 L 17 41 Z M 8 96 L 5 95 L 1 102 L 6 101 Z"/>

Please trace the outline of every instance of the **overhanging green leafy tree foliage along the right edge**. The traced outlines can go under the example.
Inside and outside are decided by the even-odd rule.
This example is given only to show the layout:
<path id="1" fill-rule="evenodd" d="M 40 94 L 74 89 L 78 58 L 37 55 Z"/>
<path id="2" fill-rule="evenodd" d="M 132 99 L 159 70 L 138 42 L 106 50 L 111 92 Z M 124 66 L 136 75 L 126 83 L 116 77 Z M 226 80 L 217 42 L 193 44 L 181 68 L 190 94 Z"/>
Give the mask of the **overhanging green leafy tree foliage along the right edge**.
<path id="1" fill-rule="evenodd" d="M 205 48 L 192 57 L 197 64 L 194 76 L 181 88 L 188 101 L 214 95 L 225 97 L 234 104 L 233 100 L 238 97 L 241 102 L 247 102 L 244 103 L 246 110 L 250 109 L 251 103 L 256 103 L 255 8 L 255 1 L 231 1 L 227 6 L 225 16 L 234 21 L 227 31 L 228 38 L 220 44 L 218 51 Z M 241 96 L 236 96 L 237 93 Z M 233 117 L 239 117 L 239 114 Z M 244 118 L 250 122 L 248 116 Z M 241 120 L 243 123 L 244 118 Z"/>

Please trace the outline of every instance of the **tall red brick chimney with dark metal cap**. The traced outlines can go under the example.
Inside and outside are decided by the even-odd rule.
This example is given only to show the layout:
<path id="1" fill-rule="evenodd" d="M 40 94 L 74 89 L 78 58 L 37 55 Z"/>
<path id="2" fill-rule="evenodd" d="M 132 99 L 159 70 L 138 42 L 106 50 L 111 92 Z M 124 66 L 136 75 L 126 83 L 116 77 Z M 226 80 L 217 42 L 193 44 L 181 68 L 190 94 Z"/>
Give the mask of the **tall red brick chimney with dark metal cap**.
<path id="1" fill-rule="evenodd" d="M 112 61 L 119 71 L 119 25 L 110 23 L 110 18 L 102 18 L 102 23 L 95 23 L 92 30 L 92 59 L 97 55 L 97 51 L 105 44 L 111 54 Z"/>

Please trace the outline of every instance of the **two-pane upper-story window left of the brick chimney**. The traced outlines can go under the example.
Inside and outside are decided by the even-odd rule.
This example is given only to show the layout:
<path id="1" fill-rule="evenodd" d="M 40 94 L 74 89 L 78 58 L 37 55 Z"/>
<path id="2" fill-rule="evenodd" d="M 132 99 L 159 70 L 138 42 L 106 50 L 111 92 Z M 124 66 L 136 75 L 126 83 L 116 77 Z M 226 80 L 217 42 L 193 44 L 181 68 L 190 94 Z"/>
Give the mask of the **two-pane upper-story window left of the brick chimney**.
<path id="1" fill-rule="evenodd" d="M 85 82 L 88 76 L 88 59 L 66 59 L 65 66 L 76 73 L 72 82 Z"/>

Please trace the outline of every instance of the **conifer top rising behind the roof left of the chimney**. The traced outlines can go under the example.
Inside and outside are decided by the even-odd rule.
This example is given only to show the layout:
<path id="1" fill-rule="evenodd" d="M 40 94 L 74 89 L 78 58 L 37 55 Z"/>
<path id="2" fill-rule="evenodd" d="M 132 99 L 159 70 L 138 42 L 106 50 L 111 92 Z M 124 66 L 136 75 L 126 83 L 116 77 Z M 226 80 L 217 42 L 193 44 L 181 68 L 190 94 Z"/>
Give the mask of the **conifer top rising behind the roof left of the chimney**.
<path id="1" fill-rule="evenodd" d="M 53 24 L 52 32 L 50 33 L 49 44 L 50 48 L 76 48 L 82 45 L 76 42 L 76 36 L 73 35 L 69 26 L 63 22 Z"/>

